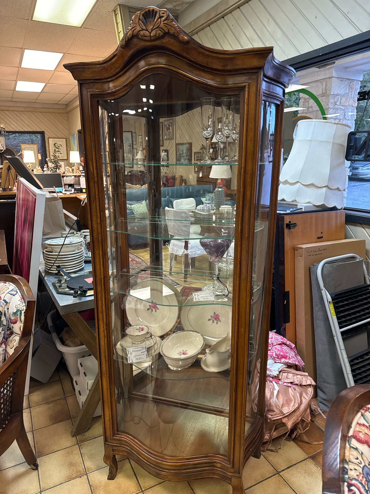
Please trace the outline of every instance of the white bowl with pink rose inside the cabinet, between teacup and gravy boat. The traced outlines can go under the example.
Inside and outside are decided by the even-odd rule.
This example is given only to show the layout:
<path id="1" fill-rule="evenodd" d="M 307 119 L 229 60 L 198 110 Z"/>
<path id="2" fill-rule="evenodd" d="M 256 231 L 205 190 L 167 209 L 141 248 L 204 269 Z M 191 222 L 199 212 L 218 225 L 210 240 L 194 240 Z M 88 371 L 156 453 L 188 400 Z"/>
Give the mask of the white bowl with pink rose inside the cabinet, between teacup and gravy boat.
<path id="1" fill-rule="evenodd" d="M 173 371 L 191 366 L 204 347 L 203 336 L 196 331 L 179 331 L 162 341 L 159 352 Z"/>

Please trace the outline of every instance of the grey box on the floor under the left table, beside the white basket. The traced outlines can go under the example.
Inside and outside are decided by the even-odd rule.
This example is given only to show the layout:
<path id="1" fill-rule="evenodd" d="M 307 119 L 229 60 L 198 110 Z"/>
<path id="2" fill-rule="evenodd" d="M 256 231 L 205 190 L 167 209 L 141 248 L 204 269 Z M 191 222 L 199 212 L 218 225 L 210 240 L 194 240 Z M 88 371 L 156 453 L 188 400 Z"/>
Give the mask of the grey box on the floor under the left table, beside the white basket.
<path id="1" fill-rule="evenodd" d="M 49 333 L 35 329 L 31 360 L 31 377 L 43 383 L 47 382 L 55 371 L 62 353 L 55 346 Z"/>

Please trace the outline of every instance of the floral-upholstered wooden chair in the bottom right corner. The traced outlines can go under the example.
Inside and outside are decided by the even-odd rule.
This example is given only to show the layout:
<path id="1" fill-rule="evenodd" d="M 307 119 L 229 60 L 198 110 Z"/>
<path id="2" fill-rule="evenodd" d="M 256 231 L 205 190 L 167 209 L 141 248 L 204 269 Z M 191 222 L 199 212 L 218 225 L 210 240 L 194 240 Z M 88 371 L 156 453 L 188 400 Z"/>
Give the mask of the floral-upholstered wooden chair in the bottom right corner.
<path id="1" fill-rule="evenodd" d="M 323 494 L 370 494 L 370 385 L 345 389 L 328 412 Z"/>

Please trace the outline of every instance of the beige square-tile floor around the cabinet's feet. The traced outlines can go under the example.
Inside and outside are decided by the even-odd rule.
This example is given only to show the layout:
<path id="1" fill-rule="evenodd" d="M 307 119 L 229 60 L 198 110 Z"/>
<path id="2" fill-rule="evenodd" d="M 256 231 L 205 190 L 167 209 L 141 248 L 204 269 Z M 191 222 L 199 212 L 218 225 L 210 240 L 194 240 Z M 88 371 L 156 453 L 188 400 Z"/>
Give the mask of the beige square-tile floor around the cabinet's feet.
<path id="1" fill-rule="evenodd" d="M 24 420 L 39 468 L 25 463 L 17 443 L 0 456 L 0 494 L 231 494 L 231 487 L 216 479 L 163 482 L 130 459 L 118 457 L 115 481 L 107 481 L 103 462 L 101 417 L 90 429 L 71 437 L 79 412 L 68 372 L 60 364 L 47 384 L 32 381 L 24 401 Z M 306 437 L 322 441 L 325 419 L 314 417 Z M 277 448 L 280 440 L 273 441 Z M 278 452 L 250 458 L 243 472 L 248 494 L 321 494 L 322 444 L 283 441 Z"/>

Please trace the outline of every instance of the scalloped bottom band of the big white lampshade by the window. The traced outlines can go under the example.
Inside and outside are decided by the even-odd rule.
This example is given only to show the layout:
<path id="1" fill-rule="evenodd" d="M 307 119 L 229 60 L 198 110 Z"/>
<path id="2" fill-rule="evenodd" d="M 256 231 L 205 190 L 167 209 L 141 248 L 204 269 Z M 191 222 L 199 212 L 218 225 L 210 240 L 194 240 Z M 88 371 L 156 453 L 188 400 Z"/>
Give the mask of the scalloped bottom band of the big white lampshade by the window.
<path id="1" fill-rule="evenodd" d="M 329 187 L 316 187 L 315 185 L 302 185 L 299 182 L 290 184 L 282 182 L 279 185 L 278 201 L 289 201 L 301 204 L 313 204 L 314 206 L 336 206 L 341 209 L 344 204 L 344 193 Z"/>

